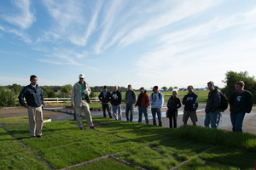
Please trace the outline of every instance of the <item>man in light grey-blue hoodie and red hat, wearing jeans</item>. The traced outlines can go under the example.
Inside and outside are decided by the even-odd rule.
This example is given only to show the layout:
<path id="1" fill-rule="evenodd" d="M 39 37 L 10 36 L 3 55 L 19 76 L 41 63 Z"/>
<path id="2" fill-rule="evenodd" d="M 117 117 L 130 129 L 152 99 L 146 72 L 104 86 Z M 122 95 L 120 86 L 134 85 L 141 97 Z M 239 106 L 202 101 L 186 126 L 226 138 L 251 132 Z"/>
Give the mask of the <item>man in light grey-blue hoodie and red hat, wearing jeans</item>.
<path id="1" fill-rule="evenodd" d="M 155 114 L 157 114 L 159 126 L 162 127 L 162 115 L 161 107 L 164 105 L 165 99 L 164 95 L 158 90 L 158 86 L 154 86 L 153 94 L 149 97 L 149 103 L 151 105 L 151 113 L 153 116 L 153 125 L 156 126 Z"/>

